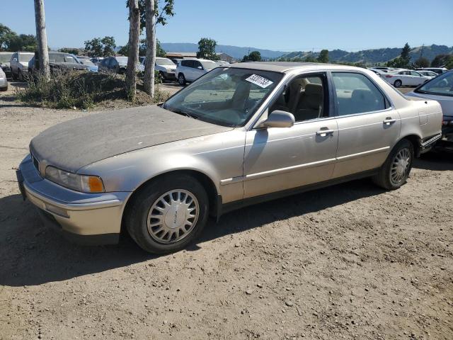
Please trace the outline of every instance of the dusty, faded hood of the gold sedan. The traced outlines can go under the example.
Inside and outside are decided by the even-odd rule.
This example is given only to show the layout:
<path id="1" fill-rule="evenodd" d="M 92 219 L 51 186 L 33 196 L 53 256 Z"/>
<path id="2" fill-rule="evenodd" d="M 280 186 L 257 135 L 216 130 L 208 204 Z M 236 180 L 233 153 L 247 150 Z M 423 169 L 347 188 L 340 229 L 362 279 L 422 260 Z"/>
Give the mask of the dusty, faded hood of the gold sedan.
<path id="1" fill-rule="evenodd" d="M 232 128 L 178 115 L 159 106 L 127 108 L 69 120 L 48 128 L 30 142 L 40 162 L 76 172 L 117 154 Z"/>

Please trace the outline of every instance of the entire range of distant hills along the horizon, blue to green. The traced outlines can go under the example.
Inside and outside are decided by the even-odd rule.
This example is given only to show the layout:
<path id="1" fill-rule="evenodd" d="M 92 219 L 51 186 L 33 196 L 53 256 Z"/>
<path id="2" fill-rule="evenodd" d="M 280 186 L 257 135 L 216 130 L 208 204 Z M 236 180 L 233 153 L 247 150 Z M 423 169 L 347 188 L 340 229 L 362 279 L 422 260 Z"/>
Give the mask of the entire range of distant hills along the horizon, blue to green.
<path id="1" fill-rule="evenodd" d="M 166 52 L 197 52 L 198 45 L 189 42 L 183 43 L 161 43 L 162 48 Z M 363 62 L 365 64 L 377 64 L 382 62 L 388 62 L 401 53 L 402 47 L 394 48 L 377 48 L 371 50 L 361 50 L 357 52 L 349 52 L 345 50 L 330 50 L 328 51 L 328 57 L 331 61 L 336 62 Z M 241 60 L 244 55 L 248 55 L 251 51 L 258 51 L 261 54 L 263 60 L 269 59 L 285 59 L 291 60 L 294 58 L 305 59 L 306 57 L 317 57 L 319 52 L 282 52 L 273 50 L 263 50 L 256 47 L 238 47 L 231 45 L 217 45 L 217 52 L 224 52 L 227 55 L 231 55 L 237 60 Z M 453 46 L 448 47 L 445 45 L 428 45 L 413 47 L 411 50 L 411 61 L 415 62 L 420 55 L 423 55 L 428 60 L 433 60 L 436 55 L 442 54 L 453 54 Z"/>

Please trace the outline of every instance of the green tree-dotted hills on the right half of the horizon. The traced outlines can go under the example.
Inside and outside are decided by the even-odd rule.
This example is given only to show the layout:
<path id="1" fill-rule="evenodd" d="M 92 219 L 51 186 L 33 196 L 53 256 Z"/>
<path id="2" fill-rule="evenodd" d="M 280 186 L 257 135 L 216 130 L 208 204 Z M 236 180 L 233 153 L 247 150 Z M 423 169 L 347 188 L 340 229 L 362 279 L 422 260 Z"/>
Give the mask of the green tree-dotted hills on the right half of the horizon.
<path id="1" fill-rule="evenodd" d="M 411 61 L 415 62 L 420 57 L 422 47 L 413 47 L 411 50 Z M 453 47 L 445 45 L 430 45 L 423 47 L 423 57 L 432 61 L 436 55 L 452 54 Z M 358 52 L 348 52 L 344 50 L 328 51 L 328 59 L 336 62 L 363 62 L 365 64 L 376 64 L 379 62 L 388 62 L 401 54 L 401 48 L 378 48 L 373 50 L 362 50 Z M 302 58 L 317 57 L 317 52 L 290 52 L 282 55 L 280 58 Z"/>

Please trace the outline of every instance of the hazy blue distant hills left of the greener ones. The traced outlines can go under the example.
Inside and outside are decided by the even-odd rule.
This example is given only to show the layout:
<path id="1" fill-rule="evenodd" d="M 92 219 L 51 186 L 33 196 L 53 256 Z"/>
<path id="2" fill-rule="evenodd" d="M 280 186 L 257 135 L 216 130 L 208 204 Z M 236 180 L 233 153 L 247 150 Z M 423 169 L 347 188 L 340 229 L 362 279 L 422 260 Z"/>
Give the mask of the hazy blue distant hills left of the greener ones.
<path id="1" fill-rule="evenodd" d="M 193 44 L 190 42 L 161 42 L 162 48 L 166 52 L 198 52 L 198 44 Z M 258 51 L 261 53 L 263 59 L 274 59 L 285 55 L 285 52 L 281 51 L 271 51 L 271 50 L 262 50 L 256 47 L 238 47 L 230 45 L 217 45 L 217 52 L 224 52 L 227 55 L 231 55 L 235 59 L 242 59 L 244 55 L 248 55 L 248 52 Z"/>

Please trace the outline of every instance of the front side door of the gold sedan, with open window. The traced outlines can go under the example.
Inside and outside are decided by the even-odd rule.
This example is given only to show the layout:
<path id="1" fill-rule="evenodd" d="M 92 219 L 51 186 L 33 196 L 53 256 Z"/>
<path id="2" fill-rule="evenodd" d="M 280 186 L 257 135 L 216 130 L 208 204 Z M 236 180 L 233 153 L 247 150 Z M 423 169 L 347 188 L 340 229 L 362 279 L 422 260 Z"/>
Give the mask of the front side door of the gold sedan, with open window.
<path id="1" fill-rule="evenodd" d="M 304 84 L 297 81 L 302 79 Z M 308 80 L 311 79 L 311 80 Z M 306 86 L 311 96 L 304 96 Z M 246 132 L 244 198 L 331 179 L 338 128 L 329 110 L 325 73 L 295 77 L 267 108 L 295 115 L 291 128 L 253 128 Z"/>

